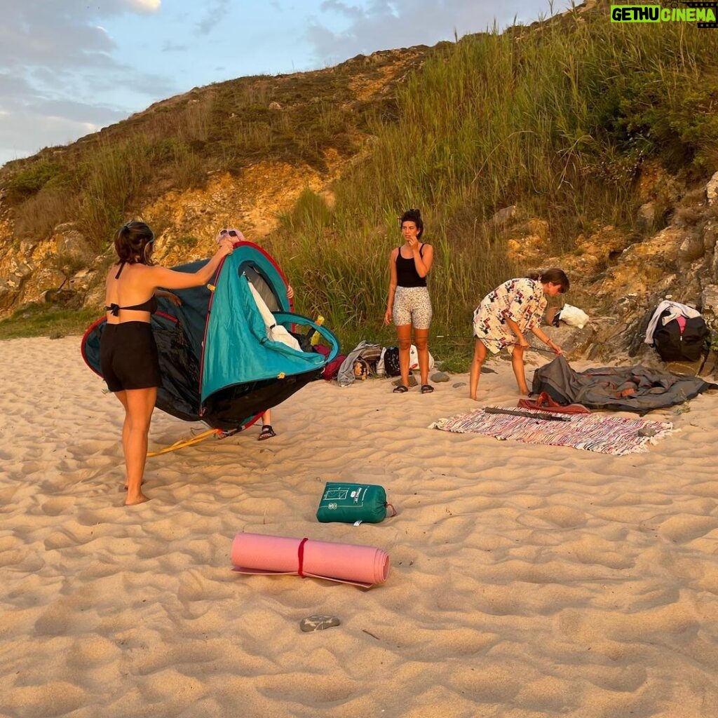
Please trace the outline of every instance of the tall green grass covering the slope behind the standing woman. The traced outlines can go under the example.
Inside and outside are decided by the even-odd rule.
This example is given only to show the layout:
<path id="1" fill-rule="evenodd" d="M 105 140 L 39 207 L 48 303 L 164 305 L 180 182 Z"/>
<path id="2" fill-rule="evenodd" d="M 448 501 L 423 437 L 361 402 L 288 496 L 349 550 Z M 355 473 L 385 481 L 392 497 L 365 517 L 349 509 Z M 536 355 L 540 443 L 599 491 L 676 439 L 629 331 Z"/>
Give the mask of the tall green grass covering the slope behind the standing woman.
<path id="1" fill-rule="evenodd" d="M 632 228 L 644 159 L 714 170 L 718 33 L 586 18 L 465 37 L 411 77 L 398 121 L 370 121 L 372 150 L 336 182 L 333 208 L 307 191 L 282 218 L 274 245 L 305 311 L 348 344 L 388 338 L 388 253 L 398 215 L 418 207 L 436 254 L 433 332 L 470 337 L 475 304 L 530 269 L 508 262 L 496 210 L 548 220 L 559 253 L 584 228 Z"/>

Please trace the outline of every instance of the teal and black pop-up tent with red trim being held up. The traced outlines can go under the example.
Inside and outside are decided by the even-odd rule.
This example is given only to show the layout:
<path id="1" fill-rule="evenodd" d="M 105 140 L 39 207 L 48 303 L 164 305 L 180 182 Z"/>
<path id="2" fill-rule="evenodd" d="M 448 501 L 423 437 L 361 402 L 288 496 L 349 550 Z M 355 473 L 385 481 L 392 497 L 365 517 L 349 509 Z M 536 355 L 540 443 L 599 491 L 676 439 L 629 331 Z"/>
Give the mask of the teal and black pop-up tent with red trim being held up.
<path id="1" fill-rule="evenodd" d="M 197 271 L 205 263 L 174 269 Z M 212 284 L 175 292 L 182 299 L 180 307 L 159 299 L 159 312 L 152 315 L 162 370 L 157 408 L 225 431 L 243 429 L 320 378 L 339 353 L 339 342 L 326 327 L 292 312 L 286 286 L 268 253 L 241 242 Z M 272 329 L 272 323 L 286 332 Z M 85 362 L 100 376 L 105 324 L 104 317 L 95 322 L 82 342 Z M 287 333 L 296 340 L 294 348 L 274 338 Z"/>

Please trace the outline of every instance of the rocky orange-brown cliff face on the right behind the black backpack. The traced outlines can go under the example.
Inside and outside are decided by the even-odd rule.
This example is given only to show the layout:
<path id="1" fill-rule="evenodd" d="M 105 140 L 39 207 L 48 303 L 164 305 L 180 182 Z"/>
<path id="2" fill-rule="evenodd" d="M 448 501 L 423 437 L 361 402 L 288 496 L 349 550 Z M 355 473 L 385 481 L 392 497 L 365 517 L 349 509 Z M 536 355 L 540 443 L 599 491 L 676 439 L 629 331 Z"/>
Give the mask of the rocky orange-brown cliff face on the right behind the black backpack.
<path id="1" fill-rule="evenodd" d="M 666 186 L 671 188 L 668 201 Z M 718 336 L 718 172 L 705 184 L 686 187 L 656 167 L 645 167 L 642 191 L 645 201 L 634 231 L 599 227 L 577 236 L 572 251 L 544 260 L 567 271 L 573 282 L 567 302 L 591 318 L 580 329 L 551 328 L 574 357 L 661 365 L 643 340 L 648 319 L 663 299 L 699 309 Z M 534 219 L 518 226 L 523 236 L 508 239 L 508 251 L 519 264 L 542 261 L 544 223 Z M 511 228 L 506 231 L 510 234 Z M 694 365 L 673 369 L 714 373 L 716 357 L 711 352 Z"/>

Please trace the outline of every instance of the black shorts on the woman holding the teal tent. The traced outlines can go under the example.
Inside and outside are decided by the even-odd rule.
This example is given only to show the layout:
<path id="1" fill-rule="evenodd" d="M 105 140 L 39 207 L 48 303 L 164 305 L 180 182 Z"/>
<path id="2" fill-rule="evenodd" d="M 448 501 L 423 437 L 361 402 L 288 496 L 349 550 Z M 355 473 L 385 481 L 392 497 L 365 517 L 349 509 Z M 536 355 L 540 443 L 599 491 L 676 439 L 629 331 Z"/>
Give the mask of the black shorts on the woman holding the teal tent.
<path id="1" fill-rule="evenodd" d="M 105 325 L 100 340 L 100 368 L 113 392 L 162 386 L 157 344 L 149 323 Z"/>

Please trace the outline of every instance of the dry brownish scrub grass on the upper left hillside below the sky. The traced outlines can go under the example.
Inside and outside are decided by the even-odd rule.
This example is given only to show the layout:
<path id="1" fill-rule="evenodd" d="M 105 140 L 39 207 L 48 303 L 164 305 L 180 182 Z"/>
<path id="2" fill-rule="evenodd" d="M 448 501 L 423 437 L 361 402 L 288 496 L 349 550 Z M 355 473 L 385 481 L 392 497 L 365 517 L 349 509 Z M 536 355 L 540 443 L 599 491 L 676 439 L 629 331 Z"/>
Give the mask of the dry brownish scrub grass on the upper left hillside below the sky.
<path id="1" fill-rule="evenodd" d="M 417 53 L 412 62 L 420 60 Z M 330 149 L 355 154 L 369 116 L 391 116 L 391 94 L 359 100 L 353 90 L 357 78 L 380 77 L 381 62 L 350 60 L 314 73 L 230 80 L 157 103 L 66 148 L 11 162 L 2 174 L 16 235 L 47 236 L 73 221 L 99 250 L 149 199 L 201 187 L 209 173 L 241 172 L 259 160 L 326 169 Z"/>

